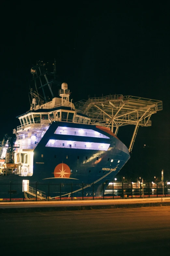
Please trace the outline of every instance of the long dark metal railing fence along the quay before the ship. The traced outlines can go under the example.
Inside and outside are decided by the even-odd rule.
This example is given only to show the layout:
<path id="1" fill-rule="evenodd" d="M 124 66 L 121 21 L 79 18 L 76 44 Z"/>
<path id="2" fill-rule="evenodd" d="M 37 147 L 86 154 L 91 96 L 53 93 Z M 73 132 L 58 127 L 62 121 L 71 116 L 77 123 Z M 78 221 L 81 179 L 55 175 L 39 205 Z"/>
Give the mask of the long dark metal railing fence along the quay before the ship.
<path id="1" fill-rule="evenodd" d="M 51 183 L 0 183 L 0 201 L 58 201 L 58 200 L 97 200 L 128 199 L 170 196 L 170 185 L 162 183 L 124 183 L 105 184 L 51 184 Z"/>

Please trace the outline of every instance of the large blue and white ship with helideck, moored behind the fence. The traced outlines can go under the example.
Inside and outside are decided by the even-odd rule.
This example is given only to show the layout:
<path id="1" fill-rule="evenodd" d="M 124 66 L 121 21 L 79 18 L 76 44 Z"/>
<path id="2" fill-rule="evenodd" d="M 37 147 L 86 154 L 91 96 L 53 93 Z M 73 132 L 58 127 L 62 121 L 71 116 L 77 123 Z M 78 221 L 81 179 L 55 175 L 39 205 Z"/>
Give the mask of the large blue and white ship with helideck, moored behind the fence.
<path id="1" fill-rule="evenodd" d="M 151 126 L 162 101 L 119 94 L 73 103 L 66 83 L 58 97 L 53 94 L 55 62 L 53 72 L 44 67 L 39 62 L 31 68 L 30 110 L 17 116 L 21 125 L 1 143 L 0 183 L 83 182 L 106 188 L 130 158 L 139 126 Z M 125 125 L 135 125 L 129 148 L 117 137 Z"/>

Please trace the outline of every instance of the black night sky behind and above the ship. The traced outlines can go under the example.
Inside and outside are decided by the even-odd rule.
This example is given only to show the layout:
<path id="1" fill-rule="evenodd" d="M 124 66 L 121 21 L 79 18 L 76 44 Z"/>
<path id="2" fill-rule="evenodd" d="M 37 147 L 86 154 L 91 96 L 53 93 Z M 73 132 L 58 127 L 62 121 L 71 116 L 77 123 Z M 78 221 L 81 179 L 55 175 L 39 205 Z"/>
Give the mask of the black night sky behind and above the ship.
<path id="1" fill-rule="evenodd" d="M 131 159 L 119 175 L 152 181 L 164 169 L 170 181 L 169 8 L 168 2 L 4 3 L 0 140 L 20 125 L 16 116 L 30 108 L 32 65 L 36 60 L 52 64 L 55 58 L 58 80 L 68 84 L 73 102 L 102 94 L 163 101 L 163 111 L 151 116 L 152 127 L 139 127 Z M 134 128 L 119 129 L 127 146 Z"/>

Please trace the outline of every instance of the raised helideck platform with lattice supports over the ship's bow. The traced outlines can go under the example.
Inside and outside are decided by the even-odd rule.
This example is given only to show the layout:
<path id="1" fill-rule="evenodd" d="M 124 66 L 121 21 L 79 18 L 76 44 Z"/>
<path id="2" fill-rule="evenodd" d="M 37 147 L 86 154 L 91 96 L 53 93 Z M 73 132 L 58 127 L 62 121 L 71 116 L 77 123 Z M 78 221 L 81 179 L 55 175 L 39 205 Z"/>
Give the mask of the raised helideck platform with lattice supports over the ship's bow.
<path id="1" fill-rule="evenodd" d="M 87 101 L 78 101 L 74 105 L 76 109 L 91 118 L 93 125 L 109 127 L 115 135 L 119 127 L 135 125 L 129 151 L 132 151 L 139 126 L 151 126 L 151 115 L 162 110 L 160 100 L 122 94 L 89 98 Z"/>

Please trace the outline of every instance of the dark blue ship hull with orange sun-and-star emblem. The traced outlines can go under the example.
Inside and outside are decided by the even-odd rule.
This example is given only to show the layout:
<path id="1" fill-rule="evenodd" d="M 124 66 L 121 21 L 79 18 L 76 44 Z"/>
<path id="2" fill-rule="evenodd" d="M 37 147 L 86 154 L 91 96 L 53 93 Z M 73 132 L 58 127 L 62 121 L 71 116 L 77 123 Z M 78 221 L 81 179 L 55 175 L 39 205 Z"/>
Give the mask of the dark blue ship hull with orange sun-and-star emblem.
<path id="1" fill-rule="evenodd" d="M 109 137 L 95 138 L 74 135 L 54 134 L 58 126 L 71 128 L 92 129 Z M 49 147 L 46 146 L 50 139 L 66 141 L 92 142 L 110 144 L 107 151 L 92 149 L 76 149 L 69 147 Z M 34 150 L 33 175 L 30 177 L 20 177 L 15 174 L 0 176 L 0 183 L 22 183 L 23 179 L 31 183 L 38 181 L 41 183 L 105 183 L 108 184 L 123 165 L 130 158 L 127 147 L 113 134 L 95 127 L 94 125 L 83 125 L 65 122 L 53 122 L 46 131 Z M 113 160 L 113 162 L 111 162 Z M 119 161 L 119 162 L 118 162 Z M 56 166 L 68 166 L 70 174 L 58 175 L 55 177 Z M 63 171 L 64 171 L 63 167 Z M 57 173 L 57 172 L 56 172 Z M 68 173 L 68 172 L 67 172 Z"/>

